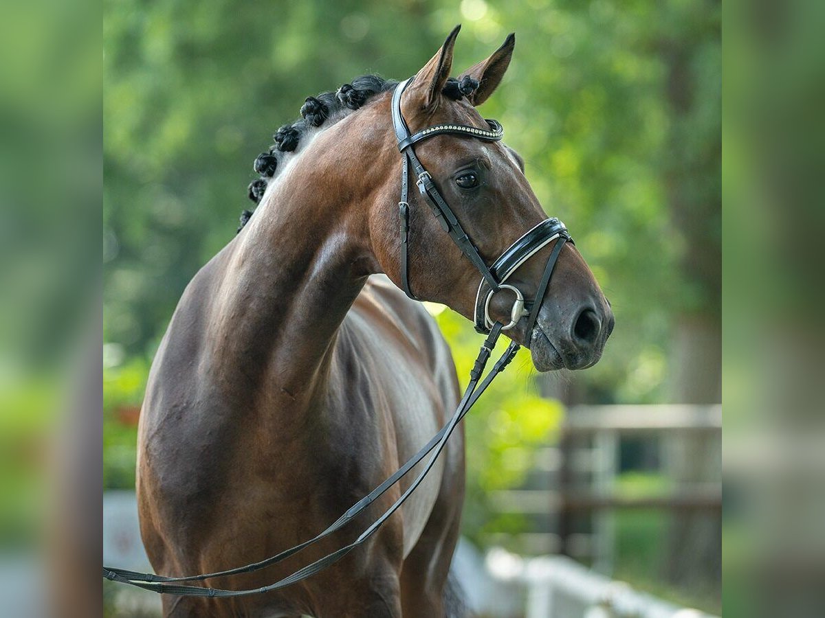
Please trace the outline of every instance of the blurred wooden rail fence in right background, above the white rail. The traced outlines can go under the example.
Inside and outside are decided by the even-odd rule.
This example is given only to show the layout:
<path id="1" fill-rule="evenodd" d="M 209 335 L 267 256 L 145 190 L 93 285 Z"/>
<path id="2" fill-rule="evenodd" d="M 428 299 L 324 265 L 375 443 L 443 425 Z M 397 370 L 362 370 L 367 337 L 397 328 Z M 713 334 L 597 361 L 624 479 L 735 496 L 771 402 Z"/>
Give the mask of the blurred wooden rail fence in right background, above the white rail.
<path id="1" fill-rule="evenodd" d="M 721 405 L 573 406 L 559 441 L 537 452 L 525 484 L 489 495 L 495 511 L 530 518 L 532 530 L 523 539 L 490 533 L 485 541 L 526 554 L 559 552 L 610 576 L 620 511 L 667 513 L 668 522 L 719 519 L 721 428 Z M 630 464 L 629 448 L 643 453 Z M 620 478 L 628 469 L 667 477 L 667 483 L 631 489 Z M 681 549 L 662 541 L 662 561 L 672 564 Z"/>

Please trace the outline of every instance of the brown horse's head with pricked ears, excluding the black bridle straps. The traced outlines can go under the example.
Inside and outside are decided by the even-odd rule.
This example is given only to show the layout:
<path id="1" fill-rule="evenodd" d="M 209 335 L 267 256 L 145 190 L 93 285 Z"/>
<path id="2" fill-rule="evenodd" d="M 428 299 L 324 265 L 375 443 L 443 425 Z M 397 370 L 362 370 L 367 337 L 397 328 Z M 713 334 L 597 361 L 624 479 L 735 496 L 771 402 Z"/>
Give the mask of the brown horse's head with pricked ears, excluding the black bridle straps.
<path id="1" fill-rule="evenodd" d="M 410 133 L 442 125 L 491 129 L 476 107 L 501 82 L 512 57 L 515 36 L 508 36 L 487 59 L 460 73 L 457 79 L 450 79 L 457 34 L 458 28 L 401 96 L 400 108 Z M 486 265 L 493 265 L 516 239 L 546 219 L 526 179 L 521 157 L 501 141 L 445 133 L 417 143 L 415 152 Z M 386 225 L 394 219 L 391 211 L 395 208 L 394 195 L 398 194 L 398 172 L 389 176 L 392 181 L 385 188 L 389 195 L 376 200 L 370 232 L 382 269 L 402 287 L 398 231 Z M 409 287 L 417 297 L 446 304 L 478 323 L 479 269 L 465 259 L 427 206 L 425 196 L 416 190 L 410 192 Z M 561 241 L 550 241 L 530 255 L 507 283 L 521 290 L 524 297 L 533 297 L 540 287 L 544 265 Z M 526 315 L 507 331 L 513 340 L 530 349 L 540 371 L 592 366 L 601 358 L 614 325 L 610 303 L 582 255 L 572 242 L 560 249 L 530 332 Z M 493 293 L 489 317 L 502 324 L 512 322 L 513 302 L 512 293 L 504 289 Z"/>

